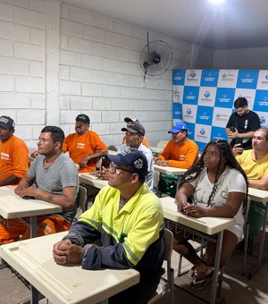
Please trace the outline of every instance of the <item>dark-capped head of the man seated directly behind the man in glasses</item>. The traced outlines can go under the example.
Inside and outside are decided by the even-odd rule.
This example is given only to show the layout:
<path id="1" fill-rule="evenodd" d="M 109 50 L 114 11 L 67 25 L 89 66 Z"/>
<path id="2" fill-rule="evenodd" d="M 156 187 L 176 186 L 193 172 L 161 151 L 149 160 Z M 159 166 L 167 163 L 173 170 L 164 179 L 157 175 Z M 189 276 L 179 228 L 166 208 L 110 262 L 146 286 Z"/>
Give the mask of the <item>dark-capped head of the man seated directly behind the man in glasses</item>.
<path id="1" fill-rule="evenodd" d="M 126 132 L 126 144 L 130 148 L 138 148 L 145 135 L 145 129 L 139 122 L 128 122 L 127 128 L 121 131 Z"/>

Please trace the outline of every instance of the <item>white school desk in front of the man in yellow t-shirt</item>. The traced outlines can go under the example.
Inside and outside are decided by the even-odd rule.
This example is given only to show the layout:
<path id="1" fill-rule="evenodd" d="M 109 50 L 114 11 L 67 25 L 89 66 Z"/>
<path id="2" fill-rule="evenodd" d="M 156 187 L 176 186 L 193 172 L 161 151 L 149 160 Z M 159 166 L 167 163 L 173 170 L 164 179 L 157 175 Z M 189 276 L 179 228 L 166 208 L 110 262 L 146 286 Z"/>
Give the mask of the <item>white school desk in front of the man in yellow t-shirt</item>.
<path id="1" fill-rule="evenodd" d="M 261 233 L 260 249 L 259 249 L 259 252 L 257 255 L 257 263 L 250 270 L 249 274 L 247 275 L 247 277 L 249 279 L 251 279 L 254 276 L 254 274 L 256 274 L 257 271 L 267 262 L 267 258 L 263 258 L 263 255 L 264 255 L 266 221 L 267 221 L 267 214 L 268 214 L 268 191 L 248 188 L 248 196 L 251 200 L 255 200 L 259 203 L 263 203 L 262 209 L 264 209 L 264 224 L 263 224 L 263 230 Z"/>

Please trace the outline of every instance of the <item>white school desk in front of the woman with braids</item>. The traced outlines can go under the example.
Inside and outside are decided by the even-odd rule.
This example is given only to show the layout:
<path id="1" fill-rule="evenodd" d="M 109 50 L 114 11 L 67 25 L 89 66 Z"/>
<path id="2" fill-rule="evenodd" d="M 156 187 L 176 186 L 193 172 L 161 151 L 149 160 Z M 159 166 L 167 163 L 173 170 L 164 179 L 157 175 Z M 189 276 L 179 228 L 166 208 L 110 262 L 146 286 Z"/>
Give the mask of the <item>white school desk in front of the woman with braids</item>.
<path id="1" fill-rule="evenodd" d="M 226 217 L 199 217 L 194 218 L 188 215 L 182 215 L 178 210 L 177 206 L 174 203 L 174 198 L 166 197 L 160 198 L 163 206 L 163 217 L 167 221 L 171 221 L 172 223 L 180 226 L 180 228 L 187 228 L 190 231 L 197 231 L 205 233 L 203 234 L 205 239 L 211 239 L 209 236 L 213 236 L 217 233 L 217 247 L 215 254 L 215 262 L 214 262 L 214 277 L 213 277 L 213 285 L 210 303 L 214 304 L 216 302 L 217 296 L 217 281 L 218 274 L 220 268 L 220 259 L 222 252 L 222 239 L 223 239 L 223 231 L 227 228 L 230 228 L 233 224 L 235 224 L 234 218 L 226 218 Z"/>

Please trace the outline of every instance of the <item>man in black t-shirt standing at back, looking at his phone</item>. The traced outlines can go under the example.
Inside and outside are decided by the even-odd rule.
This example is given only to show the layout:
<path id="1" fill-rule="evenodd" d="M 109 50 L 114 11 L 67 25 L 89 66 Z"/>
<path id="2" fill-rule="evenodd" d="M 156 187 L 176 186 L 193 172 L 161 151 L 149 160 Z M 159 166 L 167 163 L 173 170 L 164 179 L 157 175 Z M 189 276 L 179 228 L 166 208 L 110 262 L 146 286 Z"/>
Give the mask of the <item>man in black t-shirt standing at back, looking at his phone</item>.
<path id="1" fill-rule="evenodd" d="M 236 112 L 230 115 L 226 125 L 226 134 L 231 139 L 230 146 L 240 144 L 244 150 L 251 149 L 254 132 L 258 130 L 260 118 L 258 114 L 250 111 L 247 105 L 247 98 L 239 97 L 234 102 Z"/>

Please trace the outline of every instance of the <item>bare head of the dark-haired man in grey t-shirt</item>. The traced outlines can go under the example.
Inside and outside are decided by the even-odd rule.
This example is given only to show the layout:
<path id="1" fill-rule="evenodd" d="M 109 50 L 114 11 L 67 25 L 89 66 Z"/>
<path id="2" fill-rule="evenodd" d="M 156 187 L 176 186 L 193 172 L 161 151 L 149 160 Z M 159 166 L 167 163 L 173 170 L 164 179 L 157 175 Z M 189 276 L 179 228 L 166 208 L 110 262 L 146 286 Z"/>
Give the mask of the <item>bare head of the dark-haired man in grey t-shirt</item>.
<path id="1" fill-rule="evenodd" d="M 59 154 L 63 148 L 64 132 L 56 126 L 42 129 L 38 140 L 38 153 L 44 156 Z"/>

